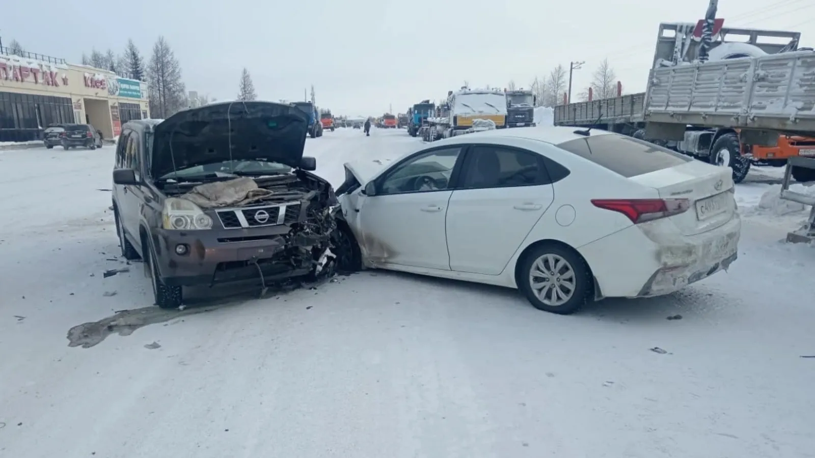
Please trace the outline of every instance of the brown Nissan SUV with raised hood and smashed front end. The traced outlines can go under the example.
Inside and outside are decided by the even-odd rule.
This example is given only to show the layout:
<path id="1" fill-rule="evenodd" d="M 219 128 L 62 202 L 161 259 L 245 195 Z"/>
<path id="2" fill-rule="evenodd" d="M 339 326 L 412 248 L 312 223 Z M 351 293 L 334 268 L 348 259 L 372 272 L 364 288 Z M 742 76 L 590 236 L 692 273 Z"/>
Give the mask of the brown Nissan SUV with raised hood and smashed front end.
<path id="1" fill-rule="evenodd" d="M 122 128 L 113 210 L 122 255 L 144 260 L 156 305 L 183 287 L 330 275 L 350 246 L 337 197 L 303 156 L 287 103 L 214 103 Z M 341 214 L 341 213 L 339 213 Z M 337 248 L 339 247 L 339 248 Z"/>

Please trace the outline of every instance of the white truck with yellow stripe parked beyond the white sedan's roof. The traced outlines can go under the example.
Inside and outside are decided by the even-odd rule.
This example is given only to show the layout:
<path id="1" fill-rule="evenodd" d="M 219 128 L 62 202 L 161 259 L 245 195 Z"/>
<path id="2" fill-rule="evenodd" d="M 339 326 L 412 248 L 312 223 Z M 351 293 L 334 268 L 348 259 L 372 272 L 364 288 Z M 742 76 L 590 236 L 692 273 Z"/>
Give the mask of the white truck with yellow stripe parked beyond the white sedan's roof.
<path id="1" fill-rule="evenodd" d="M 507 120 L 507 99 L 504 90 L 462 87 L 447 91 L 447 99 L 436 111 L 436 116 L 428 117 L 427 124 L 419 129 L 425 142 L 481 130 L 485 121 L 496 129 L 503 129 Z"/>

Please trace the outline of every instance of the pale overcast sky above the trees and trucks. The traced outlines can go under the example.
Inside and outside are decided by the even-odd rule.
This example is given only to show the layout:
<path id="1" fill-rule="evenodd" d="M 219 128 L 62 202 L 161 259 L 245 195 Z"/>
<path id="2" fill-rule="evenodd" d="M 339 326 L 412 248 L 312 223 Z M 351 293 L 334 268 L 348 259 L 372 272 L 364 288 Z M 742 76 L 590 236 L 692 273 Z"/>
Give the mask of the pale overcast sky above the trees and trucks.
<path id="1" fill-rule="evenodd" d="M 187 90 L 234 99 L 249 68 L 258 98 L 302 99 L 334 114 L 404 112 L 470 86 L 528 87 L 557 64 L 585 61 L 573 97 L 608 58 L 625 92 L 645 90 L 659 22 L 695 22 L 706 0 L 79 0 L 7 2 L 0 37 L 79 62 L 133 38 L 149 58 L 164 35 Z M 68 14 L 68 16 L 66 16 Z M 813 0 L 720 0 L 730 27 L 794 29 L 815 46 Z M 66 18 L 72 18 L 66 20 Z"/>

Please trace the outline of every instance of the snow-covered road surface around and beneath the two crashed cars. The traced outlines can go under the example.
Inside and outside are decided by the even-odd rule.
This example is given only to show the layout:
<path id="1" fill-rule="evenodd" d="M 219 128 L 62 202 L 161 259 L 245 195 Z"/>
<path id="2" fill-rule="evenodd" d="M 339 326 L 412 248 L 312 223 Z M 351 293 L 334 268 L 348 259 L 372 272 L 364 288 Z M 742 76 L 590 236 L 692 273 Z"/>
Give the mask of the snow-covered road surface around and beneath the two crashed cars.
<path id="1" fill-rule="evenodd" d="M 307 154 L 336 186 L 343 162 L 420 144 L 341 129 Z M 738 187 L 729 273 L 670 297 L 559 316 L 511 290 L 365 271 L 119 314 L 86 330 L 112 333 L 99 345 L 69 347 L 77 324 L 152 303 L 99 191 L 112 153 L 0 152 L 0 456 L 815 456 L 815 249 L 778 241 L 803 212 L 751 207 L 778 170 Z"/>

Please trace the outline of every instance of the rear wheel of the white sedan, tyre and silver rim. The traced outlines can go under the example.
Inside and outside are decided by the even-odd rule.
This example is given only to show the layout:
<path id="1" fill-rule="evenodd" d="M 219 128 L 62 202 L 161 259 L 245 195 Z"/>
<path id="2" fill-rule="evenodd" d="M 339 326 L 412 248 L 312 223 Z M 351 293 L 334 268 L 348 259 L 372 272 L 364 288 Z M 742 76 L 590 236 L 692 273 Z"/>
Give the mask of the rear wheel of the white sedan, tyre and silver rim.
<path id="1" fill-rule="evenodd" d="M 518 271 L 518 287 L 535 308 L 560 315 L 579 310 L 592 292 L 592 275 L 571 249 L 547 244 L 528 253 Z"/>

